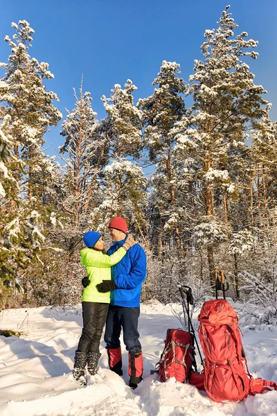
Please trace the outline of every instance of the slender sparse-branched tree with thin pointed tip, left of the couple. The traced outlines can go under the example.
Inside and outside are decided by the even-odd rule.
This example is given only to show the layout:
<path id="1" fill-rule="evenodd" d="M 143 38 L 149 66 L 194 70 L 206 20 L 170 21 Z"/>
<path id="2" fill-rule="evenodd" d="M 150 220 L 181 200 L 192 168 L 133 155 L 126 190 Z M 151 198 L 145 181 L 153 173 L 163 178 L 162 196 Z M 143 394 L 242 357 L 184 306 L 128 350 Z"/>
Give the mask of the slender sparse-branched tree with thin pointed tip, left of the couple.
<path id="1" fill-rule="evenodd" d="M 74 90 L 75 109 L 62 123 L 60 134 L 65 137 L 60 154 L 65 162 L 66 189 L 69 201 L 64 200 L 64 209 L 72 214 L 76 227 L 83 223 L 82 214 L 95 204 L 100 173 L 107 164 L 108 140 L 100 135 L 96 112 L 91 107 L 91 94 L 82 92 L 80 97 Z M 64 157 L 63 155 L 67 155 Z M 93 196 L 93 198 L 92 198 Z"/>

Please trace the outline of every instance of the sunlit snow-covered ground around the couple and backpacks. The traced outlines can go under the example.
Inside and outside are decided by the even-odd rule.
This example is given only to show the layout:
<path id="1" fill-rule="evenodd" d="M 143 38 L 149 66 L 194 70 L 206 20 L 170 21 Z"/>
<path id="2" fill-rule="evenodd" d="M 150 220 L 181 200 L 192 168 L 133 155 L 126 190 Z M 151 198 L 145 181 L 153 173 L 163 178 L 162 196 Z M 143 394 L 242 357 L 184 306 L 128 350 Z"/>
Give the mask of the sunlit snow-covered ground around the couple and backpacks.
<path id="1" fill-rule="evenodd" d="M 181 311 L 180 305 L 174 307 Z M 160 383 L 157 374 L 150 375 L 163 350 L 166 329 L 179 326 L 170 305 L 143 305 L 139 330 L 144 379 L 139 387 L 131 390 L 126 385 L 126 351 L 123 379 L 107 369 L 103 341 L 98 374 L 81 387 L 71 374 L 82 328 L 81 306 L 2 311 L 0 329 L 24 331 L 25 335 L 0 336 L 0 415 L 277 415 L 274 391 L 248 397 L 239 404 L 217 404 L 192 385 L 174 379 Z M 277 328 L 248 325 L 242 331 L 250 372 L 277 382 Z"/>

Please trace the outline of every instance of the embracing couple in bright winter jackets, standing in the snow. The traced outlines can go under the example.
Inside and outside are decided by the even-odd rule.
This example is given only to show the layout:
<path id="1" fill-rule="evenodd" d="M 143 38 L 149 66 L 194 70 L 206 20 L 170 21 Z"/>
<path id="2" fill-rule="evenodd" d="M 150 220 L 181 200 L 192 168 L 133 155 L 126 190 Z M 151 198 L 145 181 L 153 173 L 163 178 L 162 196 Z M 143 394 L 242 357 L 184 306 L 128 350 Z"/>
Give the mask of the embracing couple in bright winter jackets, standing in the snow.
<path id="1" fill-rule="evenodd" d="M 146 256 L 141 245 L 127 234 L 127 223 L 120 216 L 109 223 L 113 244 L 103 254 L 104 243 L 98 232 L 84 234 L 87 248 L 81 251 L 87 276 L 82 279 L 83 329 L 75 352 L 73 376 L 76 380 L 96 374 L 100 358 L 99 345 L 106 322 L 109 368 L 122 376 L 120 331 L 129 352 L 129 386 L 136 388 L 142 380 L 143 354 L 139 342 L 141 284 L 146 277 Z"/>

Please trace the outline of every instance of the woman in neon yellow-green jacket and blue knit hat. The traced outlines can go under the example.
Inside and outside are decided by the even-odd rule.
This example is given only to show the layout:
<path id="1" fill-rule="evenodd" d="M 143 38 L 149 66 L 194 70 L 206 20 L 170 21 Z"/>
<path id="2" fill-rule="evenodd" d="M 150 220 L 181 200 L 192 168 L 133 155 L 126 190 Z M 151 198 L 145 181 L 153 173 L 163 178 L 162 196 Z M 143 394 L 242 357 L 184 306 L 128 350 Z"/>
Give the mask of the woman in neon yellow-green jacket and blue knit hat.
<path id="1" fill-rule="evenodd" d="M 82 294 L 82 335 L 75 351 L 75 362 L 73 377 L 85 383 L 85 367 L 89 374 L 96 374 L 98 360 L 101 356 L 99 352 L 100 338 L 107 318 L 109 308 L 110 292 L 98 292 L 96 285 L 104 280 L 111 280 L 111 266 L 118 263 L 126 254 L 135 241 L 132 236 L 116 252 L 107 256 L 103 254 L 104 242 L 98 232 L 89 231 L 84 234 L 84 248 L 80 252 L 81 263 L 87 269 L 87 278 L 82 279 L 84 291 Z"/>

